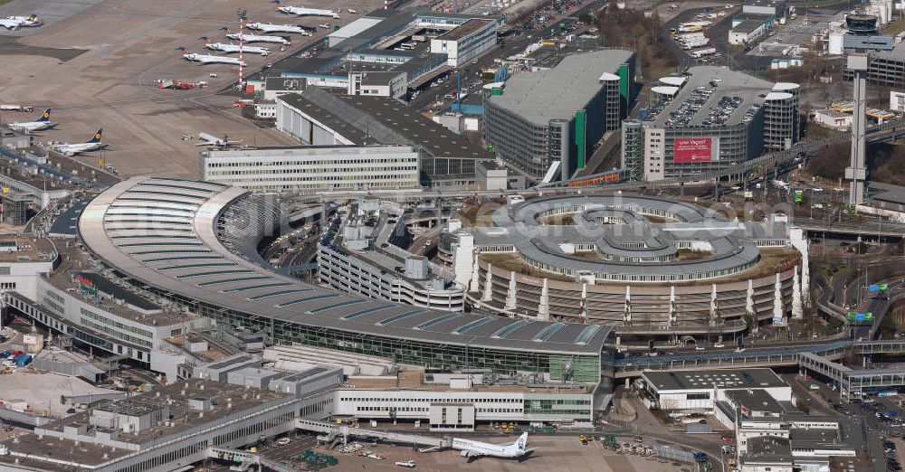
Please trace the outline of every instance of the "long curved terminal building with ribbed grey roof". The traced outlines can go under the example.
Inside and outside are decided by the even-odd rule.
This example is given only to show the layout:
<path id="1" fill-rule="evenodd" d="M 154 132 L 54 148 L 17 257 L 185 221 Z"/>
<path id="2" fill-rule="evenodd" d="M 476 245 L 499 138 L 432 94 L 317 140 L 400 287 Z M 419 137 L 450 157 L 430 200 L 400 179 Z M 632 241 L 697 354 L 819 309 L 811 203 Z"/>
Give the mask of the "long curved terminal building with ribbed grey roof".
<path id="1" fill-rule="evenodd" d="M 243 189 L 135 177 L 92 200 L 81 241 L 113 276 L 215 323 L 442 370 L 598 382 L 608 326 L 475 316 L 338 293 L 281 276 L 254 251 L 273 203 Z"/>

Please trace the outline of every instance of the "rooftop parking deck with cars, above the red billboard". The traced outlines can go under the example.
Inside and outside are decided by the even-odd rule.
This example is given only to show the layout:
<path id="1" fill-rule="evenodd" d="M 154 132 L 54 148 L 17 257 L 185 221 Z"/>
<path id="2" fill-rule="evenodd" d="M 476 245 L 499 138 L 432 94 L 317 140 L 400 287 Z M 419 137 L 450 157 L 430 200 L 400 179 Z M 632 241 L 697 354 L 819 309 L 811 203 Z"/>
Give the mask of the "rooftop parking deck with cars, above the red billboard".
<path id="1" fill-rule="evenodd" d="M 775 86 L 725 67 L 697 66 L 687 73 L 688 80 L 673 99 L 649 110 L 646 126 L 735 126 L 754 118 L 753 108 L 762 107 Z"/>

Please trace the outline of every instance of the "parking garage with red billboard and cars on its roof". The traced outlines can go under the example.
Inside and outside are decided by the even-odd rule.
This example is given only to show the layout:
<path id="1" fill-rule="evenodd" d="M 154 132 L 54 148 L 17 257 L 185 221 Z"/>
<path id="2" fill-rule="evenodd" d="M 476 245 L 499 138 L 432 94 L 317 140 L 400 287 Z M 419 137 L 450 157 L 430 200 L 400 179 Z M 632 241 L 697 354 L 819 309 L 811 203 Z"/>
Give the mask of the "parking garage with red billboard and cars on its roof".
<path id="1" fill-rule="evenodd" d="M 722 67 L 664 77 L 653 106 L 623 129 L 623 166 L 643 180 L 705 174 L 799 139 L 798 85 Z M 638 132 L 638 128 L 642 132 Z"/>

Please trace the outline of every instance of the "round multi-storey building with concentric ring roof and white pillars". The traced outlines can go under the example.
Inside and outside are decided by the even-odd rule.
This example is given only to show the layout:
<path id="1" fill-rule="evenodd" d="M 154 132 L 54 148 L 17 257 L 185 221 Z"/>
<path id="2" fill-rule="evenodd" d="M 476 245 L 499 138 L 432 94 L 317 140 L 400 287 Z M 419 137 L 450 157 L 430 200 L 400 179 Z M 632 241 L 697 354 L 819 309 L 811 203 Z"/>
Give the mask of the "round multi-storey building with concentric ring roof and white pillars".
<path id="1" fill-rule="evenodd" d="M 804 232 L 784 218 L 635 195 L 541 197 L 441 238 L 480 310 L 615 323 L 622 335 L 735 333 L 802 316 Z M 746 322 L 747 320 L 747 322 Z"/>

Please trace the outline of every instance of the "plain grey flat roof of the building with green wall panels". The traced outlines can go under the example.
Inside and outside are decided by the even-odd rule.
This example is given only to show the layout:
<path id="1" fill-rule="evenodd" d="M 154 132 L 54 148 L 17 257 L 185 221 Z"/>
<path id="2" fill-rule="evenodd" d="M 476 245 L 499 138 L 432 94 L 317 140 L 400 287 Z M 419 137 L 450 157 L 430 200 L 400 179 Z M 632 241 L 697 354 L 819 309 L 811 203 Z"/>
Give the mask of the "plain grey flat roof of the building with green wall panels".
<path id="1" fill-rule="evenodd" d="M 547 71 L 513 75 L 502 95 L 492 96 L 489 103 L 538 126 L 548 126 L 551 119 L 569 120 L 601 89 L 602 76 L 617 74 L 632 56 L 619 49 L 569 55 Z"/>

